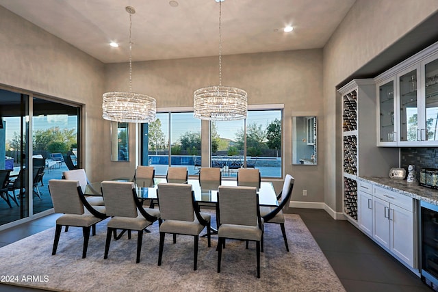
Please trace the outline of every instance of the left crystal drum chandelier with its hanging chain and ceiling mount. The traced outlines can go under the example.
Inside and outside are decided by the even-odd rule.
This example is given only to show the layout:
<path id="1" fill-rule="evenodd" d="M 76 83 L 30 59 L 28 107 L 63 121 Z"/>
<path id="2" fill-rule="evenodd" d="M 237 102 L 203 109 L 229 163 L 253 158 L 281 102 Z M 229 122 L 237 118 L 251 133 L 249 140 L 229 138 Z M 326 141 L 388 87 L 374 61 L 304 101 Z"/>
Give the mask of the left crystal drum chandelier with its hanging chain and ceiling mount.
<path id="1" fill-rule="evenodd" d="M 157 101 L 151 96 L 132 92 L 132 14 L 136 10 L 127 6 L 129 13 L 129 92 L 107 92 L 103 94 L 103 115 L 114 122 L 153 122 L 157 112 Z"/>

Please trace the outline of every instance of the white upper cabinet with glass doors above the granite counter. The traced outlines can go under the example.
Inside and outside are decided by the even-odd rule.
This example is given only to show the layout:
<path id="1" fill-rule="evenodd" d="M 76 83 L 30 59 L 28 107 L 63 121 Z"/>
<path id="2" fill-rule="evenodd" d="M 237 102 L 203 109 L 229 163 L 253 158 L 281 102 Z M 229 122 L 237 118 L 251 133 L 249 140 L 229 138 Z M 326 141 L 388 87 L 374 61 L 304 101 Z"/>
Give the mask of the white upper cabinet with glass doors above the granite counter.
<path id="1" fill-rule="evenodd" d="M 438 146 L 438 43 L 374 80 L 377 146 Z"/>

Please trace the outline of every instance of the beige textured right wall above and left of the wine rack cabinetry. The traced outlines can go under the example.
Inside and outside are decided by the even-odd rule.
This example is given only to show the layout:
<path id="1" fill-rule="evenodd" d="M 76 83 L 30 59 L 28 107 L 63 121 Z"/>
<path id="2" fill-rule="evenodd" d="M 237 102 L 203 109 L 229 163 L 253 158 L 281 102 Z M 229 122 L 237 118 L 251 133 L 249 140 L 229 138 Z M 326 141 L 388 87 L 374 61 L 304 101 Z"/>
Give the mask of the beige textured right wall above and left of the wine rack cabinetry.
<path id="1" fill-rule="evenodd" d="M 342 212 L 341 98 L 336 86 L 438 10 L 437 0 L 357 0 L 324 47 L 324 202 Z"/>

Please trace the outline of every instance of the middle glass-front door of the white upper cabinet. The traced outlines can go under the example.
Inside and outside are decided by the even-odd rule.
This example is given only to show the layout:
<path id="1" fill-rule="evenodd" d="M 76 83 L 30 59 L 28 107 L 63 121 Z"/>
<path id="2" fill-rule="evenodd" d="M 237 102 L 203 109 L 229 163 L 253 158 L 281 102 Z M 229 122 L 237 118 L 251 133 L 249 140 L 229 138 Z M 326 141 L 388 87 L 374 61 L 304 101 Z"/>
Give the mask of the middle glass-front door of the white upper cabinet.
<path id="1" fill-rule="evenodd" d="M 420 141 L 418 72 L 417 68 L 409 68 L 398 75 L 398 142 Z"/>

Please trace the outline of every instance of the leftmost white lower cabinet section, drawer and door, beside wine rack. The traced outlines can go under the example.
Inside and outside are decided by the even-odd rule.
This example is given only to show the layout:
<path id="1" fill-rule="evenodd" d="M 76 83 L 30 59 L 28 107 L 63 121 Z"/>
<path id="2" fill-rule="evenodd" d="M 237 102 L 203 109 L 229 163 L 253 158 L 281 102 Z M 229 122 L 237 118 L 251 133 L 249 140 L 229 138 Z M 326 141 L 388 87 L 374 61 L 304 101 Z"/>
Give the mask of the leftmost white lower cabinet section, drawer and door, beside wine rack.
<path id="1" fill-rule="evenodd" d="M 364 183 L 363 181 L 358 181 L 357 187 L 357 222 L 359 224 L 359 228 L 361 228 L 364 233 L 372 237 L 372 185 L 370 185 L 369 183 Z"/>

